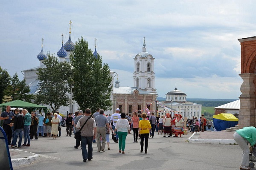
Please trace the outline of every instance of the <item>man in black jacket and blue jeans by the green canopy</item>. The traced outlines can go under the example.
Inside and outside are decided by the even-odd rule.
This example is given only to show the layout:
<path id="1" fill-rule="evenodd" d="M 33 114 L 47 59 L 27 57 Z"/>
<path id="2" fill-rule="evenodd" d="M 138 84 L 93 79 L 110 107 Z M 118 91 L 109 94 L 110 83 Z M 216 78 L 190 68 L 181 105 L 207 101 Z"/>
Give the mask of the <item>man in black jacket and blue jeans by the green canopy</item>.
<path id="1" fill-rule="evenodd" d="M 23 117 L 22 114 L 19 113 L 18 108 L 15 109 L 15 116 L 14 116 L 14 119 L 13 119 L 13 127 L 14 127 L 14 139 L 13 139 L 12 148 L 21 147 L 22 131 L 23 131 L 23 128 L 24 128 L 24 117 Z M 18 136 L 19 136 L 20 139 L 19 139 L 19 143 L 18 143 L 18 146 L 17 146 L 16 142 L 17 142 Z"/>

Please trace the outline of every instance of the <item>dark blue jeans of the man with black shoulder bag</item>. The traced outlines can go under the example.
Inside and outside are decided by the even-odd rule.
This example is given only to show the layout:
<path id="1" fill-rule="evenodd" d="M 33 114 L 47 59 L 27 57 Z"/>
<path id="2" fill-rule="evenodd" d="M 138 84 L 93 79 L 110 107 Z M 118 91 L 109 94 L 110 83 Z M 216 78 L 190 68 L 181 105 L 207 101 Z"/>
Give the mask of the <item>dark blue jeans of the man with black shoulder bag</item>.
<path id="1" fill-rule="evenodd" d="M 88 152 L 86 149 L 87 144 L 88 144 Z M 93 136 L 81 136 L 81 145 L 82 145 L 83 159 L 92 159 L 93 158 Z"/>

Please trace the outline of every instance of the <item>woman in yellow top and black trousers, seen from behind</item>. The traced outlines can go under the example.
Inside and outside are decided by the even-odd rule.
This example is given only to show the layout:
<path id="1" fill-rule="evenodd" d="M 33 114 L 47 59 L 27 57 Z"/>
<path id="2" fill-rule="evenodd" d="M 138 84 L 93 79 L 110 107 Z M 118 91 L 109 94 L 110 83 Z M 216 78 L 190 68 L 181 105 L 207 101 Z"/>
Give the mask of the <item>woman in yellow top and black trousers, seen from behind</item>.
<path id="1" fill-rule="evenodd" d="M 144 139 L 145 139 L 145 153 L 148 153 L 148 136 L 151 129 L 150 122 L 146 120 L 146 113 L 142 113 L 142 120 L 139 122 L 139 134 L 140 134 L 140 152 L 143 152 Z"/>

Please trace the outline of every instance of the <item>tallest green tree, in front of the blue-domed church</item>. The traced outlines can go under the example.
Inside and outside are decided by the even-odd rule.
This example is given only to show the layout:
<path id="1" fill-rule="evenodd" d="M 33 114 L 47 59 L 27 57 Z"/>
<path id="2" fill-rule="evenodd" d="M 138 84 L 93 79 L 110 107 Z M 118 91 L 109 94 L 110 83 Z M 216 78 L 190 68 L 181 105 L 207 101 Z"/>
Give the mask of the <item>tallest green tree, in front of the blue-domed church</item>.
<path id="1" fill-rule="evenodd" d="M 94 57 L 88 49 L 88 42 L 81 37 L 70 55 L 73 67 L 73 99 L 81 110 L 111 109 L 112 77 L 108 64 L 102 65 L 102 57 Z"/>

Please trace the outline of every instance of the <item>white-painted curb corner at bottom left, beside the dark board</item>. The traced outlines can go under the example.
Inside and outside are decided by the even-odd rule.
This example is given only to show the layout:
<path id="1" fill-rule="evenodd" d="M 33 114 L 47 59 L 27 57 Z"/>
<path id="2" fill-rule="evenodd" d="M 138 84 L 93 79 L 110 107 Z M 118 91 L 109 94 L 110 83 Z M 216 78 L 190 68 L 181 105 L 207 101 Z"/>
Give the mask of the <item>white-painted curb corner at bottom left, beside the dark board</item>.
<path id="1" fill-rule="evenodd" d="M 32 164 L 35 161 L 38 161 L 39 155 L 32 153 L 32 152 L 27 152 L 23 150 L 19 150 L 21 152 L 26 152 L 32 154 L 32 156 L 28 156 L 25 158 L 18 158 L 18 159 L 12 159 L 12 167 L 19 167 L 19 166 L 24 166 L 28 164 Z"/>

